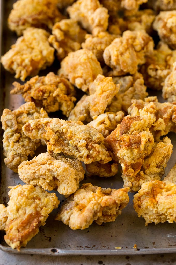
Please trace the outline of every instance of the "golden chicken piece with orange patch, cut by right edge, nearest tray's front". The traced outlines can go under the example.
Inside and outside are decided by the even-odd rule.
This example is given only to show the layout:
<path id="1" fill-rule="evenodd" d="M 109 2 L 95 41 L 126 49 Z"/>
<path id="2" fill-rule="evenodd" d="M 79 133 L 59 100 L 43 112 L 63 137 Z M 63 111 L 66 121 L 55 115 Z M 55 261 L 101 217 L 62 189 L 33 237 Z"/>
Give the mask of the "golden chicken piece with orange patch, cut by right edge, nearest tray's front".
<path id="1" fill-rule="evenodd" d="M 138 217 L 145 219 L 145 226 L 176 222 L 176 185 L 161 180 L 152 180 L 142 184 L 134 195 L 134 209 Z"/>

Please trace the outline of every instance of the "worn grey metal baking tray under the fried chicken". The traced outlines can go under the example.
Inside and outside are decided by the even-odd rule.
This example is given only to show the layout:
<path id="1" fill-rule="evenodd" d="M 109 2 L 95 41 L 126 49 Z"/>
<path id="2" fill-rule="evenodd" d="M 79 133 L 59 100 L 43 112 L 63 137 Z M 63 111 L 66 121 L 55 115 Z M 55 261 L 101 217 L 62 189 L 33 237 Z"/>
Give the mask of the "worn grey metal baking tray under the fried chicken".
<path id="1" fill-rule="evenodd" d="M 1 54 L 9 50 L 10 46 L 15 43 L 16 35 L 7 28 L 7 17 L 12 9 L 15 1 L 1 0 Z M 15 81 L 14 74 L 6 72 L 2 65 L 0 79 L 0 115 L 4 108 L 14 110 L 24 103 L 21 95 L 10 95 L 12 83 Z M 57 72 L 59 63 L 55 61 L 54 66 L 47 68 L 39 73 L 40 76 L 50 71 Z M 29 79 L 29 78 L 28 78 Z M 79 90 L 79 93 L 81 91 Z M 161 97 L 159 98 L 160 100 Z M 162 100 L 163 101 L 163 100 Z M 52 114 L 53 115 L 53 114 Z M 60 113 L 54 114 L 60 118 Z M 51 117 L 51 115 L 50 115 Z M 1 148 L 1 178 L 0 178 L 0 203 L 7 205 L 8 202 L 8 186 L 23 184 L 18 174 L 8 169 L 3 162 L 2 154 L 2 128 L 0 129 L 0 148 Z M 172 140 L 174 151 L 165 170 L 168 174 L 171 167 L 176 162 L 176 138 L 175 134 L 170 133 L 168 137 Z M 44 147 L 45 152 L 46 148 Z M 41 152 L 40 150 L 37 151 Z M 164 175 L 164 176 L 165 176 Z M 163 177 L 164 177 L 163 176 Z M 94 185 L 103 188 L 122 188 L 123 181 L 121 174 L 117 174 L 111 178 L 92 177 L 85 179 L 82 183 L 91 182 Z M 57 193 L 59 200 L 64 197 Z M 115 222 L 104 223 L 98 226 L 93 223 L 89 228 L 84 230 L 71 230 L 62 222 L 55 221 L 55 215 L 58 210 L 54 210 L 46 220 L 46 225 L 40 227 L 39 233 L 28 242 L 25 248 L 21 248 L 20 252 L 7 246 L 3 239 L 4 232 L 0 231 L 0 249 L 11 253 L 28 253 L 42 255 L 124 255 L 124 254 L 153 254 L 153 253 L 173 253 L 176 252 L 176 224 L 168 222 L 159 223 L 157 225 L 149 224 L 145 227 L 145 220 L 138 218 L 133 209 L 134 193 L 129 193 L 130 202 L 117 217 Z M 134 244 L 137 248 L 134 249 Z M 121 249 L 115 247 L 120 246 Z"/>

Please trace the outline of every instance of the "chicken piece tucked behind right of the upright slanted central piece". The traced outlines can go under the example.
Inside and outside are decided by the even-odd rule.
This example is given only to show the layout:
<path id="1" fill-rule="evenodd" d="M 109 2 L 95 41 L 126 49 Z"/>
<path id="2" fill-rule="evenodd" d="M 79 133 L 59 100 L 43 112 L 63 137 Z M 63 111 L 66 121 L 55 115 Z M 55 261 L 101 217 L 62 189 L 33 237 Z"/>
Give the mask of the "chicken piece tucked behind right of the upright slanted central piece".
<path id="1" fill-rule="evenodd" d="M 144 99 L 148 96 L 146 92 L 147 87 L 144 85 L 144 78 L 142 74 L 136 72 L 135 74 L 112 77 L 115 84 L 120 85 L 118 93 L 113 97 L 111 103 L 107 106 L 106 111 L 117 112 L 125 111 L 131 105 L 132 99 Z"/>

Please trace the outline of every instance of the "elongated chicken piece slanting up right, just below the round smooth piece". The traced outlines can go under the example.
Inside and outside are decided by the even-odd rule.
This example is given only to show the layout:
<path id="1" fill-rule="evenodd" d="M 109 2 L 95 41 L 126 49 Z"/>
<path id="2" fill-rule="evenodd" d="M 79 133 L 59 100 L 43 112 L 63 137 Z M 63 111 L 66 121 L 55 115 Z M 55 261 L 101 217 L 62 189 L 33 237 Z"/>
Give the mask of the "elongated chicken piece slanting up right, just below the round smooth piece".
<path id="1" fill-rule="evenodd" d="M 70 112 L 68 120 L 82 121 L 85 124 L 102 114 L 108 103 L 116 95 L 119 85 L 115 85 L 112 77 L 98 75 L 89 86 L 91 95 L 83 95 Z"/>

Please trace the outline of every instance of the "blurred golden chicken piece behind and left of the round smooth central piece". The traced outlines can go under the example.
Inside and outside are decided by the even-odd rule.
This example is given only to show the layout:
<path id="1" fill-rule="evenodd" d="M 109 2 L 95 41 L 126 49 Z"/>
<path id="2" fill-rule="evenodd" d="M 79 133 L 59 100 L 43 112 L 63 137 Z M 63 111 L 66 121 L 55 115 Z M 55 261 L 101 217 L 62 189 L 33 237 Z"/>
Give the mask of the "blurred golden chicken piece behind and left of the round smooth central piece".
<path id="1" fill-rule="evenodd" d="M 74 19 L 63 19 L 52 28 L 52 34 L 48 41 L 56 49 L 56 56 L 61 61 L 69 52 L 81 48 L 85 41 L 86 31 L 83 30 Z"/>

